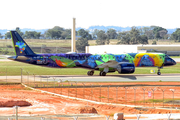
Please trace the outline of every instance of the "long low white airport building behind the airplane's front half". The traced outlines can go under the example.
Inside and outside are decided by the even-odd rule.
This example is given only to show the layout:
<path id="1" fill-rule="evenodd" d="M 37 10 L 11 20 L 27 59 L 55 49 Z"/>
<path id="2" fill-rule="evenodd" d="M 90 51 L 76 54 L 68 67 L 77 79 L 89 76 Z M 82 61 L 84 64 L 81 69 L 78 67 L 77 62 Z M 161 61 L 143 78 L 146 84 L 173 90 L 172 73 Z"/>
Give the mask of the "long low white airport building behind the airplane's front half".
<path id="1" fill-rule="evenodd" d="M 97 45 L 86 46 L 86 53 L 124 54 L 124 53 L 160 52 L 171 56 L 180 55 L 180 45 Z"/>

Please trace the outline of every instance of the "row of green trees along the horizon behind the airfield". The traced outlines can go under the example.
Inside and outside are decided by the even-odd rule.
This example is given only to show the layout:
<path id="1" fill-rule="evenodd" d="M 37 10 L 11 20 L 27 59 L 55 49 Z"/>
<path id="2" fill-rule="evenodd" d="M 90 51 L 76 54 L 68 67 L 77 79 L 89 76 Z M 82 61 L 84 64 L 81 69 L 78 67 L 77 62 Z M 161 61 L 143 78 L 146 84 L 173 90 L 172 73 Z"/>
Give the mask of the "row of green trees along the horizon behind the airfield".
<path id="1" fill-rule="evenodd" d="M 17 27 L 16 31 L 24 39 L 71 39 L 71 29 L 64 29 L 59 26 L 55 26 L 52 29 L 48 29 L 44 34 L 36 31 L 21 32 Z M 110 43 L 110 39 L 118 39 L 117 44 L 148 44 L 148 39 L 170 39 L 180 42 L 180 28 L 176 29 L 172 34 L 168 34 L 167 29 L 159 26 L 150 27 L 131 27 L 129 31 L 116 31 L 115 29 L 98 30 L 89 32 L 85 29 L 76 31 L 76 35 L 79 36 L 76 41 L 78 50 L 84 51 L 85 46 L 89 46 L 88 40 L 96 40 L 97 45 L 105 45 Z M 0 34 L 2 39 L 2 35 Z M 5 39 L 10 39 L 10 32 L 5 34 Z"/>

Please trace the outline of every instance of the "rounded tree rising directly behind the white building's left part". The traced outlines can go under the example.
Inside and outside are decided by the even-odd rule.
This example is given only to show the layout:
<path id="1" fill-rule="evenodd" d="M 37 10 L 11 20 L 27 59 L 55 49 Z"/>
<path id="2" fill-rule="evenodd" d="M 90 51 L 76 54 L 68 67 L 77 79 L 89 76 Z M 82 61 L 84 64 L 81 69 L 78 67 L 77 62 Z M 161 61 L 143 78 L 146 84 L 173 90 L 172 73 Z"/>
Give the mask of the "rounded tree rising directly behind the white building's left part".
<path id="1" fill-rule="evenodd" d="M 100 30 L 100 31 L 97 33 L 96 43 L 97 43 L 98 45 L 105 45 L 106 43 L 109 44 L 109 38 L 108 38 L 108 36 L 106 35 L 105 31 Z"/>

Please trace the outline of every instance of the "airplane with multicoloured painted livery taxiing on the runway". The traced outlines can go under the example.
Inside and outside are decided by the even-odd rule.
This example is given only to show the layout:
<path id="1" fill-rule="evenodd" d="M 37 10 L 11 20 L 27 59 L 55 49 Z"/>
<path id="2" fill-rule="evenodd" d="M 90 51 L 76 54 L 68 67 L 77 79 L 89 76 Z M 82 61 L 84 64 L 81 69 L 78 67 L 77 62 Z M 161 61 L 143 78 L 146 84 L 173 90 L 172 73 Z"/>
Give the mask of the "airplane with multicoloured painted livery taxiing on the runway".
<path id="1" fill-rule="evenodd" d="M 135 72 L 135 67 L 158 67 L 157 75 L 164 66 L 176 62 L 164 53 L 127 53 L 127 54 L 90 54 L 90 53 L 51 53 L 36 54 L 22 39 L 17 31 L 10 31 L 15 56 L 8 59 L 52 68 L 86 68 L 87 75 L 92 76 L 95 70 L 100 76 L 117 71 L 119 74 Z"/>

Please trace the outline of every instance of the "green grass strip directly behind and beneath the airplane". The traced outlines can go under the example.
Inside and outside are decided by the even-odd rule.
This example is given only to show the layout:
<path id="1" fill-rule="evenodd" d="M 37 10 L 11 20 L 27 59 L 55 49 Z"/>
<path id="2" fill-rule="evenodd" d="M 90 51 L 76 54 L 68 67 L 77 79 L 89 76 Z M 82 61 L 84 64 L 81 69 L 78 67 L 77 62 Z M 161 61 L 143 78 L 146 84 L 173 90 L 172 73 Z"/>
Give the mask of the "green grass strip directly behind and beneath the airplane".
<path id="1" fill-rule="evenodd" d="M 27 74 L 25 71 L 29 72 L 30 74 L 36 75 L 86 75 L 88 69 L 81 69 L 81 68 L 47 68 L 47 67 L 40 67 L 31 64 L 25 64 L 21 62 L 15 61 L 0 61 L 0 76 L 6 75 L 21 75 L 21 69 L 23 68 L 23 74 Z M 150 70 L 155 70 L 155 73 L 150 73 Z M 156 74 L 157 67 L 136 67 L 134 74 Z M 170 73 L 180 73 L 180 63 L 177 63 L 175 66 L 164 67 L 161 69 L 162 74 L 170 74 Z M 115 73 L 108 73 L 118 74 Z M 99 71 L 95 71 L 95 75 L 99 75 Z"/>

